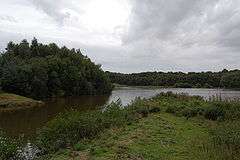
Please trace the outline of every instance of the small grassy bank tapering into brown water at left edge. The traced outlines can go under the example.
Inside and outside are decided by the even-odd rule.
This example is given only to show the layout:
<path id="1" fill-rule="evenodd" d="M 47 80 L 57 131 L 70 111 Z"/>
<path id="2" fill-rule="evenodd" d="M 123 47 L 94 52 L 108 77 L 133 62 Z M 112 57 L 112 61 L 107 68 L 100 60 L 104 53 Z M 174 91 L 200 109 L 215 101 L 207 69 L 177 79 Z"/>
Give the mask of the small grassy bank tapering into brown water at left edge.
<path id="1" fill-rule="evenodd" d="M 0 112 L 15 111 L 43 105 L 43 102 L 10 93 L 0 93 Z"/>

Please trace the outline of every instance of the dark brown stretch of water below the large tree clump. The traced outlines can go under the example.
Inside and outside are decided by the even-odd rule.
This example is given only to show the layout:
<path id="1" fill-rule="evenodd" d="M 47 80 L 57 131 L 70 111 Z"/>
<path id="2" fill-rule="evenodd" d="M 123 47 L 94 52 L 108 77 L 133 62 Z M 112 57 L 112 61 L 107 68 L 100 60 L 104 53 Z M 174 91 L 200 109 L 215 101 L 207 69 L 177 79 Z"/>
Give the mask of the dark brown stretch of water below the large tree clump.
<path id="1" fill-rule="evenodd" d="M 109 96 L 80 96 L 49 99 L 43 107 L 0 113 L 0 127 L 12 136 L 34 135 L 38 128 L 57 114 L 71 109 L 94 110 L 106 104 L 108 98 Z"/>

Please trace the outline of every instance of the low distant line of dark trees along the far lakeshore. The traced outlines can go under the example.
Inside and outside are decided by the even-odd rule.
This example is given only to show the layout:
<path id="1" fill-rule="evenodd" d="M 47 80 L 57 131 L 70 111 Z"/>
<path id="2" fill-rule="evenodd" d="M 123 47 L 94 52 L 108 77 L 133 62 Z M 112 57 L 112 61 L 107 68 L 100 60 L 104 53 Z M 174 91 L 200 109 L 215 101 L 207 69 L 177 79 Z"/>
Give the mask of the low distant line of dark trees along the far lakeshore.
<path id="1" fill-rule="evenodd" d="M 177 88 L 240 88 L 240 70 L 221 72 L 107 72 L 112 83 L 130 86 L 165 86 Z"/>

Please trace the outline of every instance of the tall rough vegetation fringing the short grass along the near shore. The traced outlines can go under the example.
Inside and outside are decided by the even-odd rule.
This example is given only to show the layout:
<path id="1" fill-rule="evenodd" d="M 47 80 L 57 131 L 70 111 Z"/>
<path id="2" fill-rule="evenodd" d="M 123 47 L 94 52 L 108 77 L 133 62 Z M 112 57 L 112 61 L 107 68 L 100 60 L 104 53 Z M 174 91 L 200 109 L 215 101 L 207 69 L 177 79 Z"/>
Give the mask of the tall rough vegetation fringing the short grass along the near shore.
<path id="1" fill-rule="evenodd" d="M 160 110 L 187 119 L 201 116 L 213 121 L 215 125 L 209 128 L 209 140 L 198 144 L 200 145 L 198 154 L 202 153 L 204 159 L 235 160 L 240 157 L 239 101 L 219 99 L 206 101 L 199 96 L 171 92 L 160 93 L 150 99 L 136 98 L 125 107 L 117 101 L 99 111 L 62 113 L 39 130 L 36 145 L 42 154 L 53 153 L 62 148 L 74 147 L 84 139 L 96 138 L 108 128 L 129 125 Z M 3 136 L 0 134 L 0 137 Z M 0 143 L 2 159 L 9 159 L 16 154 L 16 143 L 8 138 L 0 138 Z"/>

